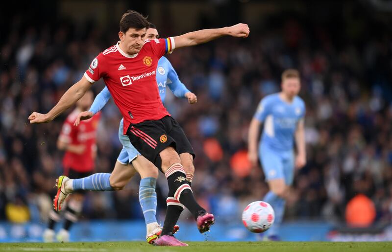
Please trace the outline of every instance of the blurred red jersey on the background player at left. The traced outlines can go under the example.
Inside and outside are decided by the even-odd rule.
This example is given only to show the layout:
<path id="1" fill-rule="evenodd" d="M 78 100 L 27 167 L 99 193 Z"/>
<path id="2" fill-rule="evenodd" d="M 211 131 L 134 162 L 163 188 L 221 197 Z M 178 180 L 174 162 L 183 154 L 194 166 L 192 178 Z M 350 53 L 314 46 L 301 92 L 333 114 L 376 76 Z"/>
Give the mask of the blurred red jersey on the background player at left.
<path id="1" fill-rule="evenodd" d="M 88 120 L 80 121 L 79 126 L 73 126 L 80 112 L 78 109 L 75 109 L 68 115 L 61 129 L 59 139 L 68 144 L 83 144 L 85 148 L 82 154 L 66 151 L 63 158 L 63 167 L 72 168 L 78 172 L 89 172 L 94 170 L 95 166 L 96 138 L 100 112 Z"/>

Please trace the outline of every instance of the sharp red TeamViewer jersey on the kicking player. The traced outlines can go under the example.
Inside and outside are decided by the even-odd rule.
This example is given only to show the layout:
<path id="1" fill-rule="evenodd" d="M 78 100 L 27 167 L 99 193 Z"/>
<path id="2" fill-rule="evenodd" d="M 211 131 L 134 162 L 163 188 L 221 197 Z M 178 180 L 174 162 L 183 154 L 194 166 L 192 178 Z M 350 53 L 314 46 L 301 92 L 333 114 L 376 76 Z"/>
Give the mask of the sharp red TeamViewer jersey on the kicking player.
<path id="1" fill-rule="evenodd" d="M 124 131 L 130 123 L 159 120 L 170 115 L 163 106 L 156 85 L 158 60 L 174 49 L 174 39 L 146 40 L 138 54 L 123 52 L 119 44 L 93 60 L 84 76 L 91 82 L 103 78 L 124 117 Z"/>

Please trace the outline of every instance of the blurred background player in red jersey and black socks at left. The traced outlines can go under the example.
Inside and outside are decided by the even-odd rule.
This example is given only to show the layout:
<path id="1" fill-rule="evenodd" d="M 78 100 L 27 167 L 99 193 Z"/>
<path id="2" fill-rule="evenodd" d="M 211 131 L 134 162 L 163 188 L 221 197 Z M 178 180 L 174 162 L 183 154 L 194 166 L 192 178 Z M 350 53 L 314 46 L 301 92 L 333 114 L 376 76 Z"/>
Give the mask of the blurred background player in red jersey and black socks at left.
<path id="1" fill-rule="evenodd" d="M 61 129 L 57 140 L 57 148 L 65 151 L 63 158 L 64 174 L 74 179 L 89 176 L 94 171 L 95 158 L 97 153 L 96 135 L 99 117 L 83 121 L 79 127 L 73 126 L 77 115 L 88 109 L 93 103 L 93 92 L 86 92 L 82 98 L 76 102 L 76 108 L 68 115 Z M 57 234 L 57 240 L 69 241 L 69 232 L 73 222 L 76 222 L 83 206 L 82 192 L 75 192 L 68 200 L 64 212 L 64 226 Z M 54 241 L 54 225 L 60 221 L 60 215 L 52 210 L 49 214 L 49 225 L 44 231 L 45 242 Z"/>

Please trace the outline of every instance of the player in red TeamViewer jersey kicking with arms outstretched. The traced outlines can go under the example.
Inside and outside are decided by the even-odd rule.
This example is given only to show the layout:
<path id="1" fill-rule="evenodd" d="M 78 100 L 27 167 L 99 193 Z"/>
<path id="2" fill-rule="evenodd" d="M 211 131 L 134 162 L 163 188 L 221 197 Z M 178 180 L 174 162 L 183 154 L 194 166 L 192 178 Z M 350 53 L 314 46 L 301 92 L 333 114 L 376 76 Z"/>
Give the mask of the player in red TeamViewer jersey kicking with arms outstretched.
<path id="1" fill-rule="evenodd" d="M 230 35 L 246 38 L 249 27 L 239 23 L 230 27 L 189 32 L 167 39 L 143 41 L 148 22 L 140 13 L 127 11 L 120 21 L 120 41 L 100 53 L 80 81 L 74 84 L 47 114 L 33 112 L 30 123 L 53 120 L 73 105 L 91 85 L 103 78 L 124 118 L 124 135 L 147 160 L 165 173 L 169 185 L 168 200 L 178 207 L 186 206 L 194 215 L 201 233 L 214 223 L 214 215 L 207 213 L 194 198 L 186 181 L 178 153 L 193 153 L 192 146 L 179 124 L 170 116 L 159 96 L 156 68 L 160 57 L 174 48 L 196 46 Z M 125 69 L 120 69 L 123 65 Z M 189 150 L 189 151 L 188 151 Z M 61 193 L 61 182 L 57 185 Z M 172 236 L 172 229 L 180 211 L 166 212 L 160 246 L 187 246 Z"/>

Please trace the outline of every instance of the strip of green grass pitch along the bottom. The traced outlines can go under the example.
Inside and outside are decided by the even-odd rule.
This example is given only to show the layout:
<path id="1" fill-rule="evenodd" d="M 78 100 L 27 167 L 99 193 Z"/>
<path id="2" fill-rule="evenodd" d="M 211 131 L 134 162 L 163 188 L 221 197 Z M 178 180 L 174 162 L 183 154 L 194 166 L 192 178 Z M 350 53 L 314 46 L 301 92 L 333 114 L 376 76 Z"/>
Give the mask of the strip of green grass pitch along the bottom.
<path id="1" fill-rule="evenodd" d="M 146 242 L 0 243 L 9 252 L 391 252 L 392 242 L 189 242 L 189 247 L 156 247 Z"/>

